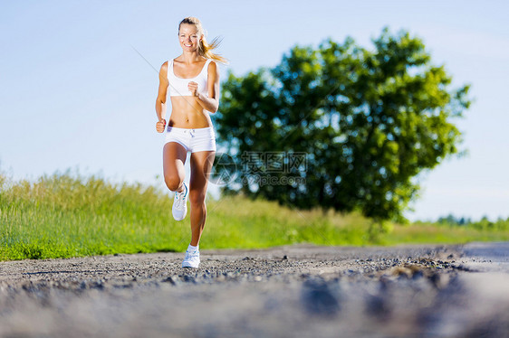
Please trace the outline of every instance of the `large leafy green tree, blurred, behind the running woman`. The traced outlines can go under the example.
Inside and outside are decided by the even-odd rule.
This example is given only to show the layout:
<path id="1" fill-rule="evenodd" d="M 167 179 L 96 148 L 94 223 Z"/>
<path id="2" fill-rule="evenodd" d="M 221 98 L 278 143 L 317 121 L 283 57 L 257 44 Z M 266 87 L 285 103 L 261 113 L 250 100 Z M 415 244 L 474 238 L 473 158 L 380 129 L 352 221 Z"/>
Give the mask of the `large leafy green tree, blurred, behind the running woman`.
<path id="1" fill-rule="evenodd" d="M 454 119 L 470 104 L 469 86 L 450 89 L 445 67 L 406 31 L 384 28 L 372 42 L 372 51 L 350 37 L 295 46 L 274 69 L 228 74 L 216 126 L 240 174 L 224 192 L 402 220 L 418 174 L 458 153 Z M 267 167 L 270 152 L 286 155 L 283 172 Z M 306 162 L 289 165 L 295 153 Z M 243 182 L 252 174 L 305 182 Z"/>

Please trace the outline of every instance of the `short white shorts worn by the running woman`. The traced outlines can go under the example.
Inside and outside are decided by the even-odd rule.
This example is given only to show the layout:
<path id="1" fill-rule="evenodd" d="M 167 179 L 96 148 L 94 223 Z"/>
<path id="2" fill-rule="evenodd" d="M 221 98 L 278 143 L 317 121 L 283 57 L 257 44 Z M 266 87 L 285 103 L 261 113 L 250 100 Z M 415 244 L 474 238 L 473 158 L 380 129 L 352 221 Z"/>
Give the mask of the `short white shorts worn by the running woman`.
<path id="1" fill-rule="evenodd" d="M 177 142 L 191 153 L 216 151 L 216 133 L 212 127 L 190 129 L 168 126 L 165 144 L 168 142 Z"/>

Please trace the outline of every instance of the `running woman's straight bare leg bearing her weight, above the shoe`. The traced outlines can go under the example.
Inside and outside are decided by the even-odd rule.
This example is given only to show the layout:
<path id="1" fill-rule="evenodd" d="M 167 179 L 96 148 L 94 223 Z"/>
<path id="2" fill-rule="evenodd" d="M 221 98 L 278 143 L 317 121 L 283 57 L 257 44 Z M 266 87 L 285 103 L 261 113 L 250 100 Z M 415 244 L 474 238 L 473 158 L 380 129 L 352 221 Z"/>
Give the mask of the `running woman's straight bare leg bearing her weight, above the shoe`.
<path id="1" fill-rule="evenodd" d="M 191 179 L 189 202 L 191 202 L 191 245 L 199 244 L 206 220 L 206 186 L 214 164 L 215 151 L 191 153 Z"/>

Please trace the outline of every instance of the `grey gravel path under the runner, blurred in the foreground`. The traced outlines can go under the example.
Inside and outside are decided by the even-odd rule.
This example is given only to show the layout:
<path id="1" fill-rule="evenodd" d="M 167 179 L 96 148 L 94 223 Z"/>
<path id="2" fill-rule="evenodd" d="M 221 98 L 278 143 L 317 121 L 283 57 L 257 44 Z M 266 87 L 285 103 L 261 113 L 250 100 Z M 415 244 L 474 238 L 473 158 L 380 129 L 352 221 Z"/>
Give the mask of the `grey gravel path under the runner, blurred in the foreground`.
<path id="1" fill-rule="evenodd" d="M 0 262 L 1 337 L 509 337 L 509 243 Z"/>

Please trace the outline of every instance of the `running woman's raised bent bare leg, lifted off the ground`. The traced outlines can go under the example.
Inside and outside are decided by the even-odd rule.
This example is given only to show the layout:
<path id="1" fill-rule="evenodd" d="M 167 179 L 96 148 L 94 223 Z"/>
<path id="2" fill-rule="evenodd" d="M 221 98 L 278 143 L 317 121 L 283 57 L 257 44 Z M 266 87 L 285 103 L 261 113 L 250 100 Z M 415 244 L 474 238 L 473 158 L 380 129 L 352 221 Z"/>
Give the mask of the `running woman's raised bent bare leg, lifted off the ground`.
<path id="1" fill-rule="evenodd" d="M 163 148 L 164 182 L 172 192 L 184 189 L 186 156 L 186 148 L 177 142 L 168 142 Z"/>

